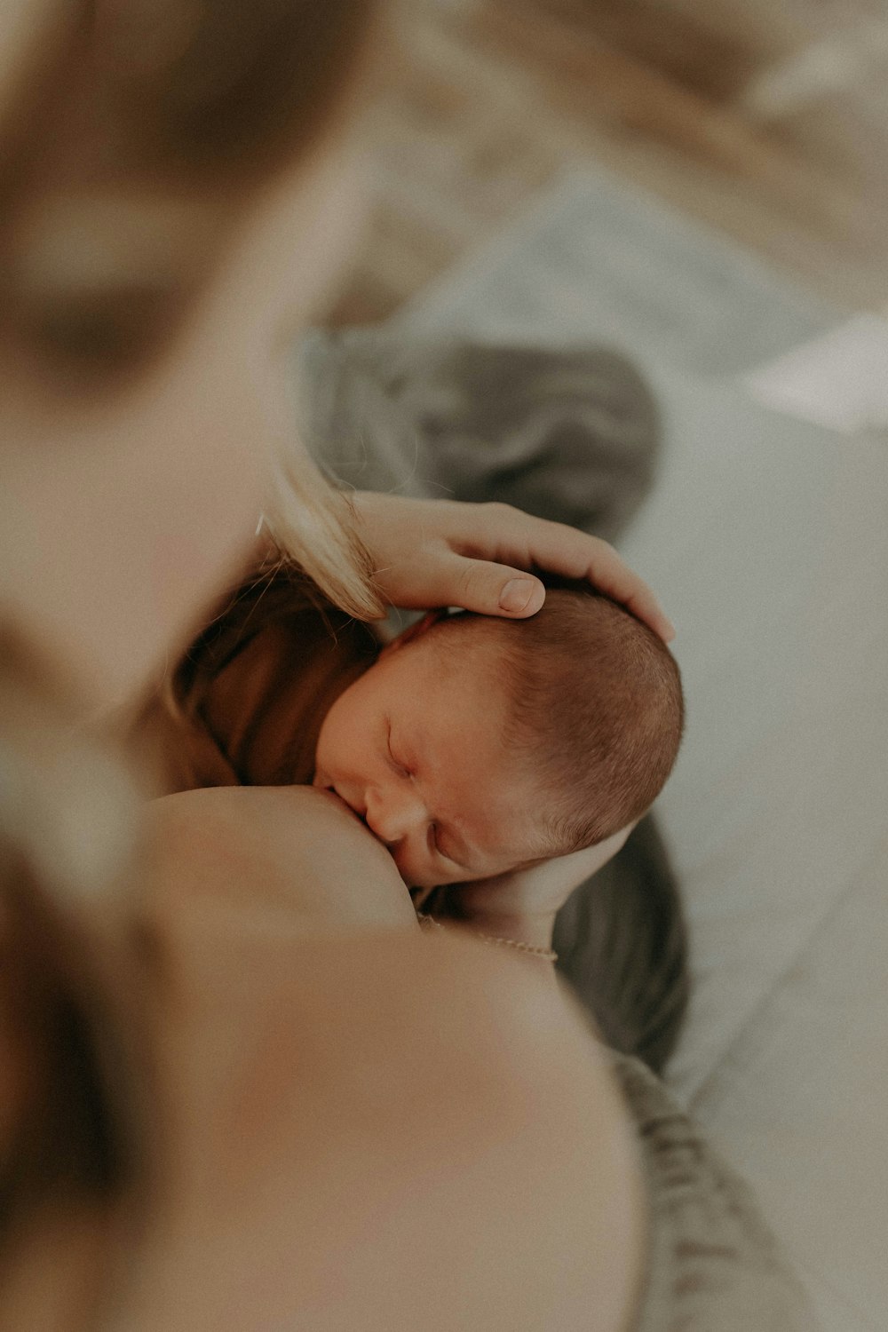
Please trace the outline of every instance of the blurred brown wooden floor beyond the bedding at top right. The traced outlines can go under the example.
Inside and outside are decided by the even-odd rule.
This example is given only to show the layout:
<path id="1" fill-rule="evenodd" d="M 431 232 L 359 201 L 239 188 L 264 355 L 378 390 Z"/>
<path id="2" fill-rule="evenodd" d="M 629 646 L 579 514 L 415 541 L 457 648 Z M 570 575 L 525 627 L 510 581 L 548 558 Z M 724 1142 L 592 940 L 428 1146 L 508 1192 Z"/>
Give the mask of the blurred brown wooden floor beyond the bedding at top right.
<path id="1" fill-rule="evenodd" d="M 363 252 L 383 318 L 599 163 L 847 308 L 888 302 L 888 0 L 402 0 Z"/>

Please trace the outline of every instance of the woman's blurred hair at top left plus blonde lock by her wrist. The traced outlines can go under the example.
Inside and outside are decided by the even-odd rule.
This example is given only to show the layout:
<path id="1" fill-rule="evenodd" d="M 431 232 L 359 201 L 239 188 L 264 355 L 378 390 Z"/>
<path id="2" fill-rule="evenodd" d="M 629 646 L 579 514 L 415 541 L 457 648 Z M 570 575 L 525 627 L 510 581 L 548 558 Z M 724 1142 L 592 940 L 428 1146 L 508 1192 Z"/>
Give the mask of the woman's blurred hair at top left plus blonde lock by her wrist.
<path id="1" fill-rule="evenodd" d="M 0 356 L 45 392 L 107 398 L 174 354 L 250 198 L 349 111 L 375 11 L 57 5 L 0 125 Z M 353 519 L 294 442 L 268 530 L 332 601 L 375 618 Z"/>

